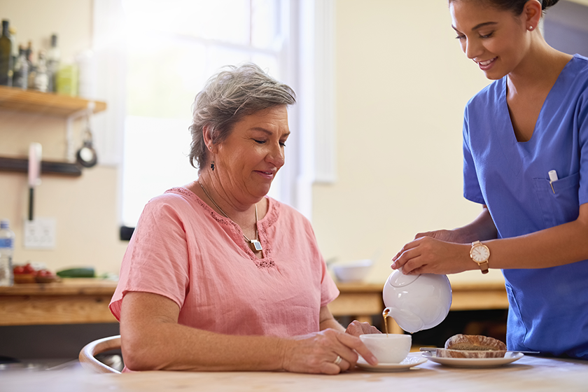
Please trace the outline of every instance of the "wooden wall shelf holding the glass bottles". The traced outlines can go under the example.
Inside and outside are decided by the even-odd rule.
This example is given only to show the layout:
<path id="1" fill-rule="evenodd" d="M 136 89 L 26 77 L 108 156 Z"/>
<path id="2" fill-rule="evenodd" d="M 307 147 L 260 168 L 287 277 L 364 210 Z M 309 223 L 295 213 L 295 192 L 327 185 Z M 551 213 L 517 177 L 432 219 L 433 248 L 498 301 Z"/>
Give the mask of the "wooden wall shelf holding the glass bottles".
<path id="1" fill-rule="evenodd" d="M 48 116 L 69 117 L 88 108 L 94 102 L 94 113 L 106 110 L 106 103 L 78 97 L 22 90 L 17 87 L 0 86 L 0 109 L 40 113 Z"/>

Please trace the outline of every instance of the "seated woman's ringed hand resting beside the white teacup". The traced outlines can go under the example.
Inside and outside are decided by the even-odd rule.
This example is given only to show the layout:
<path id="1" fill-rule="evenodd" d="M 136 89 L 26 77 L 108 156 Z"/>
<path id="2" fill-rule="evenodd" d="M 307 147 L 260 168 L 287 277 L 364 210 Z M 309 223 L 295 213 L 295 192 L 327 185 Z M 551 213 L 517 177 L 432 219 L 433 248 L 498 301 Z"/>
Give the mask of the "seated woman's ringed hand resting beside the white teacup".
<path id="1" fill-rule="evenodd" d="M 377 365 L 377 359 L 359 337 L 330 328 L 286 342 L 282 367 L 288 372 L 338 374 L 355 367 L 358 353 L 371 365 Z M 335 364 L 337 356 L 341 361 Z"/>

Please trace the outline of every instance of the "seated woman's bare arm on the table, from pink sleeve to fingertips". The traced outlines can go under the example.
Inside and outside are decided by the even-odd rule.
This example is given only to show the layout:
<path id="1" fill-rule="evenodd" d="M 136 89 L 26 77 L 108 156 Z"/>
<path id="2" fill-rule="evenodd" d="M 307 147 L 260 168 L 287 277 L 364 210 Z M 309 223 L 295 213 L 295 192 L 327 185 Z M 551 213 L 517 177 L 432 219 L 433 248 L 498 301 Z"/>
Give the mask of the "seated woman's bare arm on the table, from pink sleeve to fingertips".
<path id="1" fill-rule="evenodd" d="M 330 312 L 323 307 L 321 314 L 326 316 Z M 221 335 L 180 325 L 178 305 L 152 293 L 127 293 L 120 315 L 123 357 L 130 370 L 288 370 L 337 374 L 355 366 L 358 353 L 370 364 L 377 363 L 358 337 L 339 328 L 280 338 Z M 321 325 L 329 324 L 325 321 L 321 318 Z M 337 356 L 343 358 L 340 363 L 335 363 Z"/>

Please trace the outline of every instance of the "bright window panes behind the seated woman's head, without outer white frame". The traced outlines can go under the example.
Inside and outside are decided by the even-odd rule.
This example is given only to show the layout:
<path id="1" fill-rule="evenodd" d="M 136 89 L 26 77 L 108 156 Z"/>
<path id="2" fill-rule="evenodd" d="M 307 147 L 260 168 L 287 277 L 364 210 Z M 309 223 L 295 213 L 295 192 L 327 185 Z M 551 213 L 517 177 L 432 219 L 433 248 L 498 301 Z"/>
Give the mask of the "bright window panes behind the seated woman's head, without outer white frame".
<path id="1" fill-rule="evenodd" d="M 191 104 L 221 66 L 255 62 L 283 80 L 287 1 L 123 0 L 127 102 L 123 225 L 151 197 L 197 178 L 188 162 Z M 230 10 L 230 12 L 228 12 Z M 279 183 L 272 196 L 279 198 Z"/>

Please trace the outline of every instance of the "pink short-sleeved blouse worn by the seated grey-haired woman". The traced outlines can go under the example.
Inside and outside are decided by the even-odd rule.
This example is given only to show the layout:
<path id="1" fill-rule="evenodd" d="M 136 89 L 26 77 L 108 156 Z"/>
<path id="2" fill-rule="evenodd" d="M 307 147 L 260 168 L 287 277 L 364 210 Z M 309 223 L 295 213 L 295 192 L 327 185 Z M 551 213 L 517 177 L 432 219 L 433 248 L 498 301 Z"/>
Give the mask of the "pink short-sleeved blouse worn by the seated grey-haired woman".
<path id="1" fill-rule="evenodd" d="M 258 222 L 264 258 L 241 228 L 186 188 L 146 204 L 110 303 L 120 320 L 130 291 L 168 297 L 179 323 L 230 335 L 290 337 L 319 330 L 320 308 L 339 295 L 309 221 L 268 197 Z"/>

